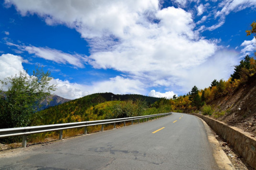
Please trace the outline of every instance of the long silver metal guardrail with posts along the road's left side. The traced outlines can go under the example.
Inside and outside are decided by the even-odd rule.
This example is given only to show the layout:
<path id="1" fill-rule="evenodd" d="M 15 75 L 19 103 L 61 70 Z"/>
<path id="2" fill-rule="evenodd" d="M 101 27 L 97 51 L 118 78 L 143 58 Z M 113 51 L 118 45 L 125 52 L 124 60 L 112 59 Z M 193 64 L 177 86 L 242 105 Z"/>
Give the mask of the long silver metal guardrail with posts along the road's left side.
<path id="1" fill-rule="evenodd" d="M 27 143 L 27 135 L 35 134 L 35 133 L 43 133 L 48 131 L 56 131 L 60 130 L 59 140 L 62 140 L 63 130 L 66 129 L 73 129 L 73 128 L 82 128 L 84 127 L 85 131 L 84 134 L 87 134 L 87 127 L 88 126 L 95 126 L 95 125 L 102 125 L 101 131 L 104 130 L 105 124 L 114 123 L 114 129 L 116 129 L 116 123 L 124 122 L 124 126 L 126 126 L 126 121 L 131 121 L 133 124 L 133 120 L 145 119 L 149 121 L 149 118 L 159 118 L 163 116 L 170 115 L 169 113 L 160 113 L 154 115 L 147 115 L 147 116 L 137 116 L 137 117 L 129 117 L 129 118 L 120 118 L 120 119 L 109 119 L 109 120 L 94 120 L 94 121 L 82 121 L 82 122 L 74 122 L 74 123 L 62 123 L 62 124 L 53 124 L 53 125 L 42 125 L 42 126 L 29 126 L 29 127 L 21 127 L 21 128 L 7 128 L 7 129 L 0 129 L 0 138 L 6 137 L 13 137 L 13 136 L 22 136 L 22 148 L 26 148 Z"/>

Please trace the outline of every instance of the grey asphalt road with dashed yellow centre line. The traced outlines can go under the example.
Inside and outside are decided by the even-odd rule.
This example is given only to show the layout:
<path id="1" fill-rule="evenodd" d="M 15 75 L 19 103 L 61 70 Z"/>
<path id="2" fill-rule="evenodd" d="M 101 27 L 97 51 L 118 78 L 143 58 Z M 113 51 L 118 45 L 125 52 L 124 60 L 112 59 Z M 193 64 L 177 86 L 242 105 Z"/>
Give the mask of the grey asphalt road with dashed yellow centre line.
<path id="1" fill-rule="evenodd" d="M 0 169 L 217 170 L 218 167 L 202 121 L 192 115 L 173 113 L 116 130 L 21 149 L 20 153 L 1 157 Z"/>

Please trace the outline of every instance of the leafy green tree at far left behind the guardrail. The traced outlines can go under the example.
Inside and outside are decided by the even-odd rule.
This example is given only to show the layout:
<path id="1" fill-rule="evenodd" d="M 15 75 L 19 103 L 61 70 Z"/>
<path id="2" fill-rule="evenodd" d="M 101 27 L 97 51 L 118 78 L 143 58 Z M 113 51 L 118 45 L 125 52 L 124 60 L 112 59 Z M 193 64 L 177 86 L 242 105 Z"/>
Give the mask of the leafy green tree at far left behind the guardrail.
<path id="1" fill-rule="evenodd" d="M 21 71 L 18 75 L 0 80 L 8 87 L 0 97 L 0 128 L 28 126 L 32 115 L 41 107 L 41 101 L 55 90 L 55 85 L 49 85 L 50 72 L 36 68 L 32 76 Z"/>

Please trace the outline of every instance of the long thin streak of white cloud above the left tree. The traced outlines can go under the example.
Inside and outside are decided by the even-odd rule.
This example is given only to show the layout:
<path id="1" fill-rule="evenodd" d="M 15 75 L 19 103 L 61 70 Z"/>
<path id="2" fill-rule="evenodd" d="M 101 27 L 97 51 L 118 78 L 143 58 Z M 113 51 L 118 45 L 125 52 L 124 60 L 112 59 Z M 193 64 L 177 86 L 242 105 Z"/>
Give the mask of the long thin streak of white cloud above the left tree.
<path id="1" fill-rule="evenodd" d="M 29 54 L 34 54 L 37 57 L 43 58 L 45 60 L 52 60 L 61 64 L 71 64 L 78 68 L 84 68 L 85 62 L 87 60 L 86 56 L 80 54 L 68 54 L 60 50 L 50 49 L 48 47 L 35 47 L 35 46 L 25 46 L 17 45 L 11 42 L 6 42 L 9 46 L 15 46 L 18 50 L 16 53 L 22 53 L 22 51 L 27 51 Z"/>

